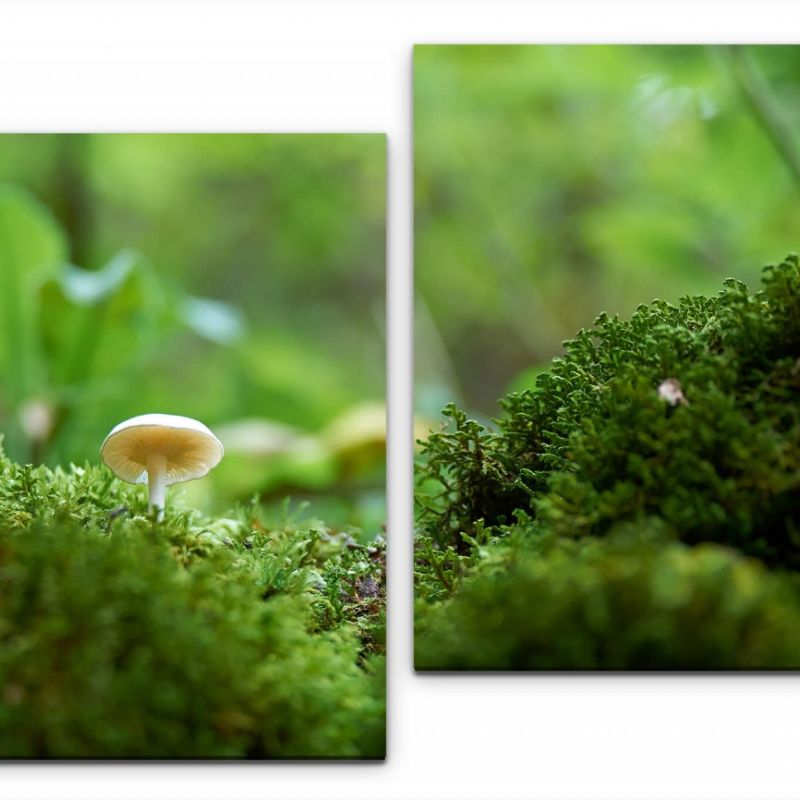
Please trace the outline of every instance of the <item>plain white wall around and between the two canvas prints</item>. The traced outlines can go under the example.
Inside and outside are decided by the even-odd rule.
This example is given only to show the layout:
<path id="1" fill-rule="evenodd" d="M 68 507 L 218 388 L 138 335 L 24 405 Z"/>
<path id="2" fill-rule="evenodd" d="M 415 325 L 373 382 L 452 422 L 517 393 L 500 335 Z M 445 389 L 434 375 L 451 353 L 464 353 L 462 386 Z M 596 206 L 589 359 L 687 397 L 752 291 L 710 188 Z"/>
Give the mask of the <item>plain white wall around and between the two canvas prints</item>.
<path id="1" fill-rule="evenodd" d="M 3 765 L 0 796 L 800 796 L 800 678 L 414 676 L 410 578 L 412 44 L 796 42 L 797 20 L 790 2 L 0 0 L 2 130 L 389 134 L 392 415 L 385 764 Z"/>

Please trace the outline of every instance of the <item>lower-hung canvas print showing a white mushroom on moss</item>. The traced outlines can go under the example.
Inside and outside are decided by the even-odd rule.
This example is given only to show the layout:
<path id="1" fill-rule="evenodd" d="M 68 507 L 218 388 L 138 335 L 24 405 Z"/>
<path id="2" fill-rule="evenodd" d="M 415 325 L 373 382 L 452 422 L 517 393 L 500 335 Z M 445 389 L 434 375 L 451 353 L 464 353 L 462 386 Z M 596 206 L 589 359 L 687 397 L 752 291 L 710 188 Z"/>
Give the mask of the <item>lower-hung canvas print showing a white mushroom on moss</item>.
<path id="1" fill-rule="evenodd" d="M 380 135 L 0 135 L 0 758 L 383 758 Z"/>

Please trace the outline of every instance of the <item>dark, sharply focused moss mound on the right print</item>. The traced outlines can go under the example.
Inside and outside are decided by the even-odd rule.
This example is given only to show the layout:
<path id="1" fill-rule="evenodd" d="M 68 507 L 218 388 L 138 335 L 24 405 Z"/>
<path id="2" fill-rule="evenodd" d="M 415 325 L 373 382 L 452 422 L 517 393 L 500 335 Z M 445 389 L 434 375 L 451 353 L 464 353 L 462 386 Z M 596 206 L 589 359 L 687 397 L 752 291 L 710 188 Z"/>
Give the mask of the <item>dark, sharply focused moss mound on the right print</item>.
<path id="1" fill-rule="evenodd" d="M 529 505 L 565 535 L 653 514 L 687 541 L 794 563 L 798 285 L 792 256 L 755 295 L 732 281 L 630 321 L 603 315 L 534 389 L 506 398 L 497 432 L 449 410 L 453 430 L 424 446 L 422 475 L 445 498 L 426 501 L 423 522 L 453 542 L 472 520 L 503 523 Z M 686 402 L 660 396 L 669 379 Z"/>

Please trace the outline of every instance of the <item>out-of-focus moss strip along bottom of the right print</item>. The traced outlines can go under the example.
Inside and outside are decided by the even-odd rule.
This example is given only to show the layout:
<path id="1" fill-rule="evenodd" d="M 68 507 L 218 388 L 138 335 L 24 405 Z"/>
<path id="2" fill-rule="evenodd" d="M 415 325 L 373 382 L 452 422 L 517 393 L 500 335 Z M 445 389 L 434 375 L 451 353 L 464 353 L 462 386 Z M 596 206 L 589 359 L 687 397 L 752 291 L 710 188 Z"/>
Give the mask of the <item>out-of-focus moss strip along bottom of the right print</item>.
<path id="1" fill-rule="evenodd" d="M 800 665 L 796 581 L 718 545 L 648 541 L 646 528 L 533 552 L 496 548 L 496 562 L 451 599 L 417 603 L 417 668 Z"/>

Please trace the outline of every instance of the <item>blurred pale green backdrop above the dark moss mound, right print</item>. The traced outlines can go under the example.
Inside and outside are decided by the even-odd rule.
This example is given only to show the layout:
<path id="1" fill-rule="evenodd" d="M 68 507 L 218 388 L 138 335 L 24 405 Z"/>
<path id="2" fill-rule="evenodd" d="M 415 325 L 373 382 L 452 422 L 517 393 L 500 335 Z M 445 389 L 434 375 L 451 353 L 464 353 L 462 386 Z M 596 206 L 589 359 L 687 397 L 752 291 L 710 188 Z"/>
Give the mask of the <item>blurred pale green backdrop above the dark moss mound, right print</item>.
<path id="1" fill-rule="evenodd" d="M 416 405 L 493 416 L 602 311 L 800 247 L 800 48 L 417 46 Z"/>

